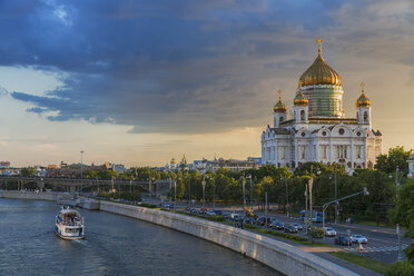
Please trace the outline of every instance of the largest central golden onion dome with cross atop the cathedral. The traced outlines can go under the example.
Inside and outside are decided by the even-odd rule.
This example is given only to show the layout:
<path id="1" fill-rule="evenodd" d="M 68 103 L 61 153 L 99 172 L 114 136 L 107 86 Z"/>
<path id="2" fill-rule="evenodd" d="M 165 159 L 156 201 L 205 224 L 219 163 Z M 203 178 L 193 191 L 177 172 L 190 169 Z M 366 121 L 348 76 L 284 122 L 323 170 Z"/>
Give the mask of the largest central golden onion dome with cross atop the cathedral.
<path id="1" fill-rule="evenodd" d="M 322 40 L 318 38 L 316 40 L 318 43 L 318 55 L 315 61 L 309 68 L 300 76 L 300 81 L 303 86 L 315 86 L 315 85 L 333 85 L 341 86 L 342 80 L 337 72 L 332 69 L 324 58 L 322 57 Z"/>

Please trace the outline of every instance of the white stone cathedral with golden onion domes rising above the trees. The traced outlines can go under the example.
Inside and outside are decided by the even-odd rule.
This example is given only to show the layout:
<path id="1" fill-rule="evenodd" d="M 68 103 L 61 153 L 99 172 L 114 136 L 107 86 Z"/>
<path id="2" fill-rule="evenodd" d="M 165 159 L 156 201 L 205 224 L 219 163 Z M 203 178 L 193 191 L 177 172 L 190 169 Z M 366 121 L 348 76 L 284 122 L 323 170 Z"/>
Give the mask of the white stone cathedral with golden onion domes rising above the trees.
<path id="1" fill-rule="evenodd" d="M 382 134 L 372 129 L 371 100 L 365 85 L 356 100 L 356 117 L 345 117 L 339 75 L 318 55 L 300 76 L 293 118 L 279 100 L 273 109 L 273 127 L 262 134 L 262 162 L 294 170 L 307 161 L 341 164 L 348 174 L 373 168 L 382 150 Z"/>

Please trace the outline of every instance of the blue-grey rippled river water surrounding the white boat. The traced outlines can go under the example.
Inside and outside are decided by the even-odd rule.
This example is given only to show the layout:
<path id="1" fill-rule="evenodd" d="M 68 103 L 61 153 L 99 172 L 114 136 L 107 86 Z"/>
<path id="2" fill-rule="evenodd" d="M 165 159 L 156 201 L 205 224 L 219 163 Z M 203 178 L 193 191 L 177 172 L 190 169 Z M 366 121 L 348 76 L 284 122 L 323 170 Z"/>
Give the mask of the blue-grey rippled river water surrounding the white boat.
<path id="1" fill-rule="evenodd" d="M 60 206 L 0 198 L 0 275 L 277 275 L 196 237 L 105 211 L 80 209 L 86 239 L 55 236 Z"/>

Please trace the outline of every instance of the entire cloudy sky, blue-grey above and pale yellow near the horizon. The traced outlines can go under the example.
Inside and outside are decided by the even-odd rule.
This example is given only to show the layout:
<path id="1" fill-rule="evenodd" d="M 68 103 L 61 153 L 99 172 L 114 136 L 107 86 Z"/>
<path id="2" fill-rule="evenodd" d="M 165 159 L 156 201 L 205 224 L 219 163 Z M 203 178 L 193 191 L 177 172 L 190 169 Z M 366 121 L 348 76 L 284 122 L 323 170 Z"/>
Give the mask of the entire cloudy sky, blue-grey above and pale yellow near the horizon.
<path id="1" fill-rule="evenodd" d="M 0 159 L 16 166 L 259 156 L 317 37 L 346 116 L 365 81 L 383 150 L 414 148 L 410 0 L 1 0 L 0 33 Z"/>

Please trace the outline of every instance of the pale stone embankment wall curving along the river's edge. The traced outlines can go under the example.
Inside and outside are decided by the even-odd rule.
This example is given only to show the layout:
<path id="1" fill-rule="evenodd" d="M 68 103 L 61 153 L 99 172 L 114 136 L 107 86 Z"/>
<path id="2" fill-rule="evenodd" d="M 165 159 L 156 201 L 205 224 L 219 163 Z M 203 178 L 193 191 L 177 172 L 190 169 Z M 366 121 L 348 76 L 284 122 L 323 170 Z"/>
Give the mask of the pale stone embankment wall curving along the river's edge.
<path id="1" fill-rule="evenodd" d="M 194 235 L 254 258 L 285 275 L 357 275 L 288 244 L 200 218 L 118 203 L 100 201 L 100 209 Z"/>

